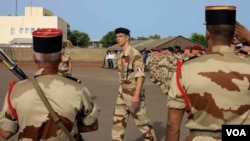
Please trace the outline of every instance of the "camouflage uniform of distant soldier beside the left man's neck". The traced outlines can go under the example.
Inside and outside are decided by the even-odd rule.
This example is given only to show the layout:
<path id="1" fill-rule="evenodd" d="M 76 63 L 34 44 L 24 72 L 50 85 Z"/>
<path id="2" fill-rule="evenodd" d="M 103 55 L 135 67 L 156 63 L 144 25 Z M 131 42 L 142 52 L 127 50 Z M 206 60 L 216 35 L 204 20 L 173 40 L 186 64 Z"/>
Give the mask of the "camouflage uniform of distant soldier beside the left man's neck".
<path id="1" fill-rule="evenodd" d="M 69 70 L 70 61 L 71 61 L 71 57 L 68 54 L 63 54 L 62 61 L 60 62 L 58 66 L 59 75 L 66 75 L 66 76 L 71 75 L 70 70 Z"/>

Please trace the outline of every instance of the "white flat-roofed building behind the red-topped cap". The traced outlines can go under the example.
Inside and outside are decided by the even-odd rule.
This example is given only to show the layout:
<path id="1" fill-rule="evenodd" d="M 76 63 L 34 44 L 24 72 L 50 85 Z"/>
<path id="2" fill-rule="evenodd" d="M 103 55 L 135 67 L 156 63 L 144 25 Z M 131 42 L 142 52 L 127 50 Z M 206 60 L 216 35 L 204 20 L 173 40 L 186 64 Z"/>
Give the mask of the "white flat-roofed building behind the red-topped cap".
<path id="1" fill-rule="evenodd" d="M 32 31 L 38 28 L 59 28 L 67 39 L 67 22 L 43 7 L 25 7 L 24 16 L 0 16 L 0 44 L 31 47 Z"/>

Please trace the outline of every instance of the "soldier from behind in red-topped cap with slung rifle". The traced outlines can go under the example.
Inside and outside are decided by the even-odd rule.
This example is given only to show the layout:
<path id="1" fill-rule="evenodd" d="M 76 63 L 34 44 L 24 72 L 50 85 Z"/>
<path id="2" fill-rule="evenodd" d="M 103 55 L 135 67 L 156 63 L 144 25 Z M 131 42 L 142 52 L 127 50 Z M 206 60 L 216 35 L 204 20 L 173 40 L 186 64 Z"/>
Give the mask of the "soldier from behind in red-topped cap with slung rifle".
<path id="1" fill-rule="evenodd" d="M 38 65 L 35 78 L 66 129 L 75 136 L 78 134 L 76 120 L 87 126 L 97 123 L 99 109 L 91 100 L 87 88 L 57 74 L 62 31 L 36 30 L 33 32 L 33 44 L 34 59 Z M 29 79 L 16 84 L 13 82 L 10 86 L 0 114 L 0 136 L 8 139 L 19 132 L 20 141 L 69 140 Z"/>

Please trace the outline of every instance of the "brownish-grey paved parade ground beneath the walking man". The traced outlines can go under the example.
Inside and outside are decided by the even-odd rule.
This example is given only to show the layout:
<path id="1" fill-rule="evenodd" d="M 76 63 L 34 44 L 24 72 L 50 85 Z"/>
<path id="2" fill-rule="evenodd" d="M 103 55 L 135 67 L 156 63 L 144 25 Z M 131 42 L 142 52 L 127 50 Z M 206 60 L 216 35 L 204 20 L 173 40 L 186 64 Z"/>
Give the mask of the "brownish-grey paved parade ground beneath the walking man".
<path id="1" fill-rule="evenodd" d="M 37 67 L 34 63 L 18 62 L 18 66 L 28 75 L 32 76 Z M 72 63 L 73 76 L 82 80 L 92 93 L 94 101 L 101 107 L 99 116 L 99 129 L 95 132 L 83 133 L 85 141 L 110 141 L 112 113 L 117 98 L 119 87 L 118 74 L 116 70 L 101 68 L 101 63 Z M 146 107 L 148 117 L 153 125 L 157 141 L 165 141 L 165 128 L 167 120 L 167 96 L 161 93 L 158 86 L 153 84 L 149 79 L 149 73 L 146 72 L 144 88 L 146 89 Z M 0 104 L 3 101 L 8 89 L 8 84 L 18 80 L 17 77 L 0 63 Z M 186 115 L 185 115 L 186 117 Z M 182 124 L 180 141 L 183 141 L 188 135 L 187 128 Z M 9 141 L 16 141 L 17 135 Z M 3 141 L 3 139 L 0 139 Z M 135 126 L 132 118 L 126 128 L 124 141 L 143 141 L 141 132 Z"/>

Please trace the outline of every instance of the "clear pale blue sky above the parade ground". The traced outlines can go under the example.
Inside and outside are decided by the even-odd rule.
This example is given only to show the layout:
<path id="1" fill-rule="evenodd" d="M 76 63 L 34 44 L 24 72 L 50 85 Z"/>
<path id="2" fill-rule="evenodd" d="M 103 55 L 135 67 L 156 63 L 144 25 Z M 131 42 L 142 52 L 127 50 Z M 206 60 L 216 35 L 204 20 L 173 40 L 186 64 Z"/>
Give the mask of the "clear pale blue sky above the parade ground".
<path id="1" fill-rule="evenodd" d="M 101 40 L 117 27 L 130 29 L 134 38 L 189 38 L 192 33 L 204 35 L 208 5 L 236 6 L 236 19 L 250 29 L 250 0 L 0 0 L 0 16 L 16 11 L 23 16 L 25 7 L 44 7 L 92 40 Z"/>

